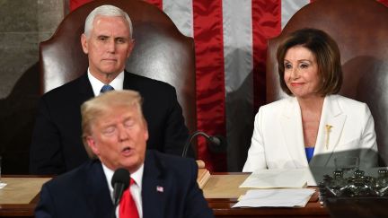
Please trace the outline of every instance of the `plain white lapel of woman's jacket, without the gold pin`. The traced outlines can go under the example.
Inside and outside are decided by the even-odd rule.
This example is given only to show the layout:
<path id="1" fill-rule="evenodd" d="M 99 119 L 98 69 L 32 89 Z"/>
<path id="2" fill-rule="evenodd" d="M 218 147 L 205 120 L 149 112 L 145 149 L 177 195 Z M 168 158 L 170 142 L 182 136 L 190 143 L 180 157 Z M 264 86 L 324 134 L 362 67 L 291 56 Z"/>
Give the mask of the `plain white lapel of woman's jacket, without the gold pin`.
<path id="1" fill-rule="evenodd" d="M 294 162 L 295 168 L 306 167 L 308 162 L 304 153 L 304 136 L 302 128 L 302 116 L 296 98 L 288 98 L 284 108 L 280 123 L 286 142 L 287 152 L 290 156 L 288 162 Z M 281 152 L 281 151 L 279 151 Z M 304 161 L 304 166 L 296 162 Z"/>

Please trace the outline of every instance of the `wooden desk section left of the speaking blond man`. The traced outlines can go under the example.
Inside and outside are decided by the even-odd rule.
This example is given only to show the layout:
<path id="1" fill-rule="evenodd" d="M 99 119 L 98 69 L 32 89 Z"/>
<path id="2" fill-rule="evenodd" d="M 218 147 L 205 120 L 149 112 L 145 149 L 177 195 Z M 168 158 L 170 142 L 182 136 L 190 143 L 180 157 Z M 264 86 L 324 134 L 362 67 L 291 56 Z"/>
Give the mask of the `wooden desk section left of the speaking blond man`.
<path id="1" fill-rule="evenodd" d="M 1 217 L 33 217 L 40 187 L 51 178 L 33 176 L 4 176 L 7 183 L 0 189 Z"/>

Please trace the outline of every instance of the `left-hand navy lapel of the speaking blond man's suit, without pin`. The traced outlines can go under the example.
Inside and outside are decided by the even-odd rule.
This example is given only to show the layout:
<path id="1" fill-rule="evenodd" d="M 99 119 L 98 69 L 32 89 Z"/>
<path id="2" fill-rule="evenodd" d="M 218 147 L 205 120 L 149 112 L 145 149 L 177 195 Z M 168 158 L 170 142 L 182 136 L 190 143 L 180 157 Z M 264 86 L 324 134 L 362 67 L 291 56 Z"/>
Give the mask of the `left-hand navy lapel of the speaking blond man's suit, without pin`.
<path id="1" fill-rule="evenodd" d="M 84 192 L 91 217 L 111 217 L 113 202 L 101 161 L 95 160 L 86 170 Z"/>

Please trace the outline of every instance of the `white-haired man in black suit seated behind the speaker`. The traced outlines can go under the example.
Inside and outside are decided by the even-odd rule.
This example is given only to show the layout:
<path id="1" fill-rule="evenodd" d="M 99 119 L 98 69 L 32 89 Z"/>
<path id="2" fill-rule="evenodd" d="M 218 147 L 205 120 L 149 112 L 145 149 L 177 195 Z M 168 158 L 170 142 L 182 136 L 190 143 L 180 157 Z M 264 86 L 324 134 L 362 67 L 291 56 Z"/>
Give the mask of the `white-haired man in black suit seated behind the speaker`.
<path id="1" fill-rule="evenodd" d="M 112 5 L 94 9 L 86 18 L 81 43 L 88 55 L 87 73 L 40 100 L 31 141 L 31 173 L 60 174 L 87 160 L 80 137 L 80 106 L 106 89 L 140 92 L 151 135 L 147 148 L 181 155 L 188 129 L 175 89 L 125 71 L 135 44 L 128 14 Z"/>

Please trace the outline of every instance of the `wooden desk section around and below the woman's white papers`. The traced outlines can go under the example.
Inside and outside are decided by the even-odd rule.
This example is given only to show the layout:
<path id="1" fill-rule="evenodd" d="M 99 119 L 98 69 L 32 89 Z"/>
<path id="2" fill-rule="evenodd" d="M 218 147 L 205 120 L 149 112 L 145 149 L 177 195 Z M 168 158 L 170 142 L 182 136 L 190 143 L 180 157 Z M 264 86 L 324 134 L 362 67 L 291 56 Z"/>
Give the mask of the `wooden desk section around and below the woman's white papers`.
<path id="1" fill-rule="evenodd" d="M 318 193 L 304 208 L 232 208 L 237 198 L 250 188 L 239 188 L 249 173 L 213 173 L 203 188 L 204 196 L 216 217 L 330 217 L 325 207 L 318 201 Z"/>

